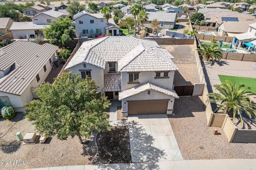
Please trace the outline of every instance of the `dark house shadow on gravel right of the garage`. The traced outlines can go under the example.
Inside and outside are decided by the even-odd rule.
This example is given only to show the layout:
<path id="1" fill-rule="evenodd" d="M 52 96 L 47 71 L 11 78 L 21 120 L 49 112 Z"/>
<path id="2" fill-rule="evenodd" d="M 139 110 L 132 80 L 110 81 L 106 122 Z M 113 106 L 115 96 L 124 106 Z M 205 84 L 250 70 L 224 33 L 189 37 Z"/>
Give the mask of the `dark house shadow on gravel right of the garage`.
<path id="1" fill-rule="evenodd" d="M 195 112 L 205 112 L 205 104 L 198 96 L 181 96 L 175 99 L 173 109 L 170 118 L 195 117 Z"/>

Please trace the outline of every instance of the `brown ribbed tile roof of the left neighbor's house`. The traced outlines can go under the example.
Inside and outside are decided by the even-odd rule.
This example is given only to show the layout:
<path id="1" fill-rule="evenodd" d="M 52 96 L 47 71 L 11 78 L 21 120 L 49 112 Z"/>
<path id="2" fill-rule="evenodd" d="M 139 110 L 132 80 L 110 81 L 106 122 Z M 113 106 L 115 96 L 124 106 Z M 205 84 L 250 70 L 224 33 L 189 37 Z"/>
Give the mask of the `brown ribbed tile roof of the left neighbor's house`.
<path id="1" fill-rule="evenodd" d="M 57 49 L 48 43 L 39 45 L 28 41 L 15 41 L 1 48 L 0 71 L 10 67 L 11 70 L 0 79 L 0 91 L 21 95 Z"/>

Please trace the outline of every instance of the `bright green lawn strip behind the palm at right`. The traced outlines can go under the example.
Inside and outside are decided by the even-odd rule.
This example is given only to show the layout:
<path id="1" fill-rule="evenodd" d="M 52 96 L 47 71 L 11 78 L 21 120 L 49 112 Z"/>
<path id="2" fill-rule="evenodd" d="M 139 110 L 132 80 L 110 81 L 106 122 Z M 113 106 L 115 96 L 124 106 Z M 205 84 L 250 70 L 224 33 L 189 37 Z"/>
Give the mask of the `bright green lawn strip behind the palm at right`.
<path id="1" fill-rule="evenodd" d="M 229 80 L 230 82 L 236 81 L 237 83 L 244 84 L 245 87 L 251 87 L 251 90 L 256 92 L 256 79 L 254 78 L 243 78 L 229 75 L 219 75 L 219 78 L 222 84 L 225 84 L 225 80 Z"/>

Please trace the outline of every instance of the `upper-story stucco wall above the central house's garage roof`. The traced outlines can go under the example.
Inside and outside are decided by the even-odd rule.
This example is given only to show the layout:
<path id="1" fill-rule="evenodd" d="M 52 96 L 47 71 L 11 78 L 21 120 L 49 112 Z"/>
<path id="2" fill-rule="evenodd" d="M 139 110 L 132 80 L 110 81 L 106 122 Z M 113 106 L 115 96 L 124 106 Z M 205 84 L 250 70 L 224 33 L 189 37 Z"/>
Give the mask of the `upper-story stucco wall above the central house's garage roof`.
<path id="1" fill-rule="evenodd" d="M 139 73 L 139 82 L 140 84 L 146 83 L 147 81 L 151 83 L 155 83 L 158 86 L 162 86 L 168 89 L 173 88 L 173 79 L 174 79 L 174 72 L 169 72 L 169 78 L 166 79 L 155 79 L 156 72 L 140 72 Z M 163 73 L 161 73 L 161 76 L 163 76 Z M 122 83 L 122 91 L 133 88 L 135 86 L 138 86 L 139 84 L 128 84 L 129 82 L 129 73 L 128 72 L 121 72 L 121 83 Z"/>

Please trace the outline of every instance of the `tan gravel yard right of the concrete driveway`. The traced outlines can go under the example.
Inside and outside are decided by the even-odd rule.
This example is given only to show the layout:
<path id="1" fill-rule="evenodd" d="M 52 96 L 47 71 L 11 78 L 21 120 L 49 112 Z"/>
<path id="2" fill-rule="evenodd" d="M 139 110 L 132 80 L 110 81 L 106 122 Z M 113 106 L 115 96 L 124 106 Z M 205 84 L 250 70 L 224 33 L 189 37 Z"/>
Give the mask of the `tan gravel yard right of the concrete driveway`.
<path id="1" fill-rule="evenodd" d="M 169 116 L 169 121 L 183 159 L 256 158 L 255 143 L 228 143 L 221 128 L 216 128 L 220 135 L 213 135 L 215 128 L 206 125 L 201 98 L 175 99 L 174 113 Z M 205 149 L 200 149 L 201 146 Z"/>

